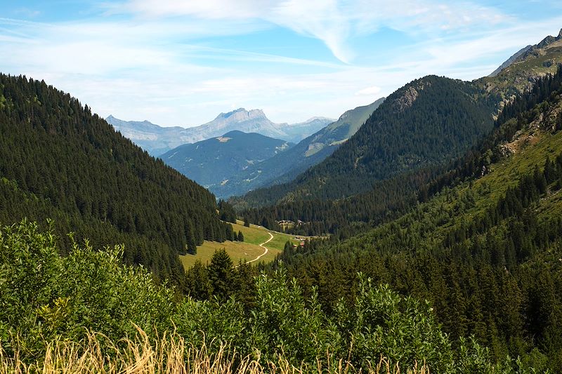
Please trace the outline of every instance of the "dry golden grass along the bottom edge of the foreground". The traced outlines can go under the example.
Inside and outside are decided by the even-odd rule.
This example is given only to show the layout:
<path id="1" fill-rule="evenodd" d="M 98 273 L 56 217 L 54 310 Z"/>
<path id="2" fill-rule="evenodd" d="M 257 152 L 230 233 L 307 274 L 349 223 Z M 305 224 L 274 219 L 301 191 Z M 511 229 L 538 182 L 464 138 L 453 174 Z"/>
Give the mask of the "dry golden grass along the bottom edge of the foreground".
<path id="1" fill-rule="evenodd" d="M 122 340 L 109 349 L 102 349 L 100 340 L 105 337 L 91 333 L 86 342 L 55 342 L 48 345 L 44 359 L 36 363 L 24 363 L 16 354 L 8 357 L 0 349 L 0 374 L 156 374 L 156 373 L 191 373 L 191 374 L 302 374 L 302 373 L 360 373 L 344 360 L 336 361 L 329 370 L 318 361 L 318 366 L 295 367 L 286 359 L 276 362 L 259 363 L 250 356 L 240 357 L 236 352 L 229 352 L 221 347 L 215 354 L 210 354 L 205 346 L 192 347 L 177 334 L 164 335 L 156 342 L 139 329 L 135 340 Z M 110 353 L 104 353 L 110 352 Z M 332 365 L 328 365 L 332 366 Z M 381 359 L 379 364 L 367 370 L 372 374 L 399 374 L 398 365 L 391 366 Z M 429 374 L 426 366 L 402 371 L 407 374 Z"/>

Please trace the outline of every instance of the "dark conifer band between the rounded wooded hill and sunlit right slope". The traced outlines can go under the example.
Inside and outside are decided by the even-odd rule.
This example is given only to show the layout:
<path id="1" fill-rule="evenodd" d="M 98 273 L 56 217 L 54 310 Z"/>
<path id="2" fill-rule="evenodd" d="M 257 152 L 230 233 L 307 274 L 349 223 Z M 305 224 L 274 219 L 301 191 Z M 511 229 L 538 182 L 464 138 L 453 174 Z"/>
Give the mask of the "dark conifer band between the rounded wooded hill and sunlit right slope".
<path id="1" fill-rule="evenodd" d="M 292 201 L 246 209 L 242 214 L 251 222 L 259 222 L 267 227 L 276 227 L 277 220 L 303 221 L 290 230 L 304 235 L 329 232 L 339 238 L 349 237 L 354 232 L 364 232 L 368 227 L 396 218 L 418 201 L 426 201 L 455 180 L 485 172 L 490 162 L 499 159 L 497 144 L 507 142 L 520 130 L 518 126 L 521 123 L 514 126 L 509 120 L 549 98 L 557 89 L 559 75 L 560 72 L 539 79 L 530 91 L 522 93 L 505 106 L 497 116 L 494 131 L 481 139 L 467 154 L 447 165 L 398 174 L 374 183 L 368 192 L 347 199 Z M 266 191 L 274 194 L 275 188 Z"/>

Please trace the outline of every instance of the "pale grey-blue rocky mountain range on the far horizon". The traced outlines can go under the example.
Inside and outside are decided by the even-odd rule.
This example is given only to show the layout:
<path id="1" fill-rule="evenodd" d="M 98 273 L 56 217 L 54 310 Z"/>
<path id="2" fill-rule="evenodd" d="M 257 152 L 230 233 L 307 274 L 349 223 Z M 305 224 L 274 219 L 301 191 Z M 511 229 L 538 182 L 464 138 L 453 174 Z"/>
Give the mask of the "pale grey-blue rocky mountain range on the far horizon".
<path id="1" fill-rule="evenodd" d="M 190 128 L 162 127 L 149 121 L 123 121 L 114 116 L 108 116 L 105 120 L 152 156 L 159 156 L 180 145 L 216 138 L 235 130 L 259 133 L 287 142 L 299 142 L 334 121 L 325 117 L 313 117 L 301 123 L 273 123 L 261 109 L 247 111 L 244 108 L 218 114 L 213 121 Z"/>

